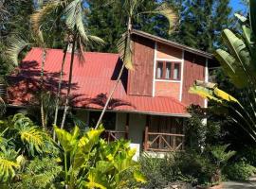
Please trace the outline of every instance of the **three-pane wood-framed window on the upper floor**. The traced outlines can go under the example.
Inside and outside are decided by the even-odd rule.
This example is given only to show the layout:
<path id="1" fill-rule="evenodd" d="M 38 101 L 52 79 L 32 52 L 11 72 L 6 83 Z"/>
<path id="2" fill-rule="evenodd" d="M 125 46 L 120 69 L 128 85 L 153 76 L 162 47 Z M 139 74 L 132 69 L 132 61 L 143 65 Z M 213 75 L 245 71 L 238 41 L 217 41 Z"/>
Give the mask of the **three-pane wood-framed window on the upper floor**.
<path id="1" fill-rule="evenodd" d="M 180 62 L 157 61 L 156 73 L 157 79 L 180 80 Z"/>

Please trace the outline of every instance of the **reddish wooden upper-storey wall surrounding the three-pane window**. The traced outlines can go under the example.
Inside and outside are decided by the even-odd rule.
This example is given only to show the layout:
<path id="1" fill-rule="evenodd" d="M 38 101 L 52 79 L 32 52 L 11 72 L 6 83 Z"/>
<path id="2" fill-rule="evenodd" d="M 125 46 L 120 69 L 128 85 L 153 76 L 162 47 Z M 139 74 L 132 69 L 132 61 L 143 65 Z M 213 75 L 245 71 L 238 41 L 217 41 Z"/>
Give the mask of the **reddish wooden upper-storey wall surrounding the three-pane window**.
<path id="1" fill-rule="evenodd" d="M 128 72 L 127 93 L 130 95 L 171 96 L 186 105 L 204 106 L 204 99 L 196 94 L 189 94 L 194 80 L 205 80 L 206 58 L 184 51 L 167 44 L 157 43 L 141 36 L 133 35 L 134 70 Z M 183 80 L 159 80 L 154 78 L 155 60 L 183 62 Z M 181 72 L 182 73 L 182 72 Z M 153 87 L 155 86 L 155 89 Z M 182 87 L 182 90 L 180 88 Z M 182 91 L 182 96 L 180 92 Z M 155 92 L 155 94 L 153 94 Z"/>

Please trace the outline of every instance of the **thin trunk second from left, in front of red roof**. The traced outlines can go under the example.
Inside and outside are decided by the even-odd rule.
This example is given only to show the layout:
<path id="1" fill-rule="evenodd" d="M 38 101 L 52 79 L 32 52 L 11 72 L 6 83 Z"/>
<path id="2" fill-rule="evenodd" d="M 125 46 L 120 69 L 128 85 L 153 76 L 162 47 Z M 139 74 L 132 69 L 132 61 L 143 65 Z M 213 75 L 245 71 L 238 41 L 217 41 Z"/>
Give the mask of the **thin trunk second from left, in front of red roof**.
<path id="1" fill-rule="evenodd" d="M 59 102 L 60 102 L 60 97 L 61 97 L 61 92 L 62 92 L 62 83 L 63 83 L 63 75 L 64 75 L 64 61 L 67 53 L 67 47 L 68 43 L 66 43 L 64 47 L 64 57 L 63 57 L 63 62 L 62 62 L 62 68 L 61 68 L 61 73 L 60 73 L 60 81 L 59 81 L 59 86 L 58 86 L 58 93 L 56 97 L 56 106 L 55 106 L 55 115 L 54 115 L 54 122 L 53 125 L 56 126 L 57 120 L 58 120 L 58 112 L 59 112 Z M 55 141 L 56 139 L 56 134 L 55 131 L 53 130 L 53 140 Z"/>

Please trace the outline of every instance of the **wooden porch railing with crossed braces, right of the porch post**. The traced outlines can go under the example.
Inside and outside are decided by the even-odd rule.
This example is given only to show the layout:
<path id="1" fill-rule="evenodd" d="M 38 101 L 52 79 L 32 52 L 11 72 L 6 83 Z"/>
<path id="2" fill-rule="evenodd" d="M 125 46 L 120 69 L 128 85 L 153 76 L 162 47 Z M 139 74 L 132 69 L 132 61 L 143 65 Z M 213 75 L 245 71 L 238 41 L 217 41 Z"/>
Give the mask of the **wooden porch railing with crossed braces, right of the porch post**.
<path id="1" fill-rule="evenodd" d="M 180 151 L 184 149 L 184 134 L 149 132 L 145 130 L 145 151 Z"/>

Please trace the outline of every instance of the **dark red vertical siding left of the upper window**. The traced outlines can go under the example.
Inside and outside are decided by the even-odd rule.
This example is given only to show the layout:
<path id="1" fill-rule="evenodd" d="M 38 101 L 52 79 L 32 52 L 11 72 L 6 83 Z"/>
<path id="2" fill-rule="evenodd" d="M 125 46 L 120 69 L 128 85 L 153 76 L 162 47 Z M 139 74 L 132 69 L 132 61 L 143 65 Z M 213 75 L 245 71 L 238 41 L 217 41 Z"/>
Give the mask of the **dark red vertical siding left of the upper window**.
<path id="1" fill-rule="evenodd" d="M 146 38 L 133 38 L 134 70 L 128 73 L 128 94 L 152 96 L 155 43 Z"/>

